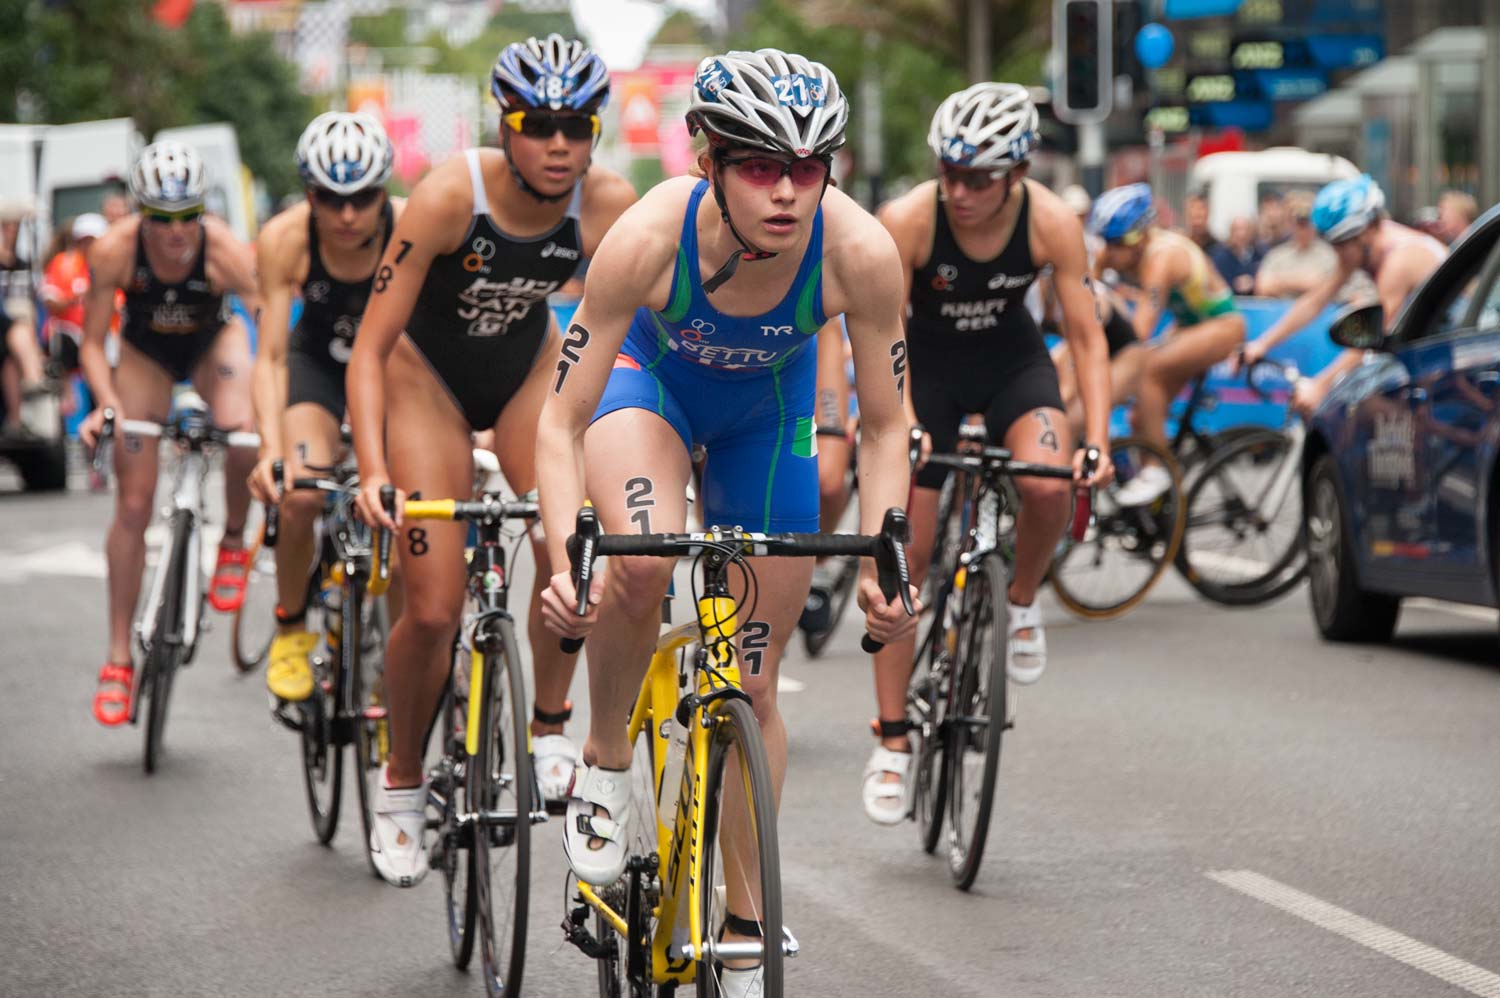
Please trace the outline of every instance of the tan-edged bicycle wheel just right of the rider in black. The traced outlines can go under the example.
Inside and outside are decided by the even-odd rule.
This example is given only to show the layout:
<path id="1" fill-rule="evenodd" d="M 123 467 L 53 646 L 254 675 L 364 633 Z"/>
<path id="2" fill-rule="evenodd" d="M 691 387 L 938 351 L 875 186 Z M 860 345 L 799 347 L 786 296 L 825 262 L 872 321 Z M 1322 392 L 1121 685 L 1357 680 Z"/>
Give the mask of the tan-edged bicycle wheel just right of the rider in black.
<path id="1" fill-rule="evenodd" d="M 1084 620 L 1108 620 L 1138 606 L 1167 572 L 1186 524 L 1182 474 L 1167 450 L 1140 437 L 1110 443 L 1118 479 L 1095 497 L 1095 524 L 1082 542 L 1066 540 L 1048 578 L 1058 602 Z M 1172 488 L 1146 506 L 1114 497 L 1143 467 L 1172 471 Z"/>

